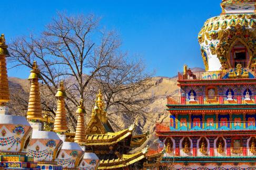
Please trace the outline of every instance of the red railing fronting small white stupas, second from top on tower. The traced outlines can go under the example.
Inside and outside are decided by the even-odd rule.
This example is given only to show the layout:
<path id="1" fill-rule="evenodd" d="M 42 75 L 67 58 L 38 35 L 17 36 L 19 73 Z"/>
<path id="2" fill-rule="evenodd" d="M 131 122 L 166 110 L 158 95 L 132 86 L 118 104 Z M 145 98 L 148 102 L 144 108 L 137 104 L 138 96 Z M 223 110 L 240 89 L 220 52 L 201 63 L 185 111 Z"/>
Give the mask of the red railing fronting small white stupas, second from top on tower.
<path id="1" fill-rule="evenodd" d="M 189 105 L 189 104 L 256 104 L 256 96 L 250 95 L 215 95 L 215 96 L 195 96 L 195 97 L 171 97 L 167 98 L 169 105 Z"/>

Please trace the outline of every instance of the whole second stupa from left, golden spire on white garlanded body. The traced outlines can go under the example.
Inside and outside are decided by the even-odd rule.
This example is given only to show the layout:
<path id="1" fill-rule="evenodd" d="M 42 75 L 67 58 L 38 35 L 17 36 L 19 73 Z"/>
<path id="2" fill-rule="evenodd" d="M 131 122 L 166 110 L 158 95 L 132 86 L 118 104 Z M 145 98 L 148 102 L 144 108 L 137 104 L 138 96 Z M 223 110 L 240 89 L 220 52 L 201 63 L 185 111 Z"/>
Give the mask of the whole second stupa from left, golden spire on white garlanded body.
<path id="1" fill-rule="evenodd" d="M 43 118 L 41 97 L 38 79 L 40 71 L 36 61 L 28 77 L 31 82 L 31 90 L 28 101 L 27 120 L 33 127 L 32 139 L 27 147 L 27 155 L 34 157 L 34 161 L 41 169 L 62 169 L 55 161 L 57 153 L 62 147 L 62 140 L 55 132 L 43 131 L 43 124 L 47 120 Z"/>

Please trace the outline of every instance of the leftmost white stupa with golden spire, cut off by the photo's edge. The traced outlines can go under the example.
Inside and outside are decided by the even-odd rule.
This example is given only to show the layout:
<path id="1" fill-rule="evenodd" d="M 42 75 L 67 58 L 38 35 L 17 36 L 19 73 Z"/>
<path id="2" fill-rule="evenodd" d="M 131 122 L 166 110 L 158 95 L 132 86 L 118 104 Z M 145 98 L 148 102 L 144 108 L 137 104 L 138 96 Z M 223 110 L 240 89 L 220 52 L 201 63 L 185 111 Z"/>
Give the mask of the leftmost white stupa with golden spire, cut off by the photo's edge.
<path id="1" fill-rule="evenodd" d="M 5 37 L 0 37 L 0 163 L 4 169 L 37 169 L 33 157 L 26 155 L 32 127 L 23 116 L 8 115 L 9 89 L 6 70 L 8 55 Z"/>

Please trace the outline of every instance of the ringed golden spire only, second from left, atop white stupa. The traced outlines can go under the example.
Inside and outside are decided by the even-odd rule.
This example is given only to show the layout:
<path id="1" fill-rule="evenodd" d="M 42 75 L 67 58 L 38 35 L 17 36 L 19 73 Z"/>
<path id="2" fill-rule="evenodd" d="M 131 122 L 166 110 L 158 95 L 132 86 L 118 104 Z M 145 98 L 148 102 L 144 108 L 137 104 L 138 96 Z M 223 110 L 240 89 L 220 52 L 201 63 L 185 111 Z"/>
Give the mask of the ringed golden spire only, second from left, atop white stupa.
<path id="1" fill-rule="evenodd" d="M 40 71 L 37 69 L 36 61 L 33 63 L 33 70 L 30 71 L 28 80 L 31 83 L 27 119 L 31 121 L 43 120 L 41 98 L 38 79 L 40 78 Z"/>

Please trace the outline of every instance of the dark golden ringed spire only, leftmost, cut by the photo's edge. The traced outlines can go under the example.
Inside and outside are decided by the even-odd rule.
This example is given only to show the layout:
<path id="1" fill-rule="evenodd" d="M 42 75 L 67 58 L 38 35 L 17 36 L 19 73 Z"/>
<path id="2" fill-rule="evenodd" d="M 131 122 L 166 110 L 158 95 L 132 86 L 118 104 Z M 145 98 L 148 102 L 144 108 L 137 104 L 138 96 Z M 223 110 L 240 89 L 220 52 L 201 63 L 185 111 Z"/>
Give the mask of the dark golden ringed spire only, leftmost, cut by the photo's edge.
<path id="1" fill-rule="evenodd" d="M 4 34 L 0 37 L 0 105 L 9 101 L 8 77 L 5 57 L 9 55 L 8 46 L 5 45 Z"/>

